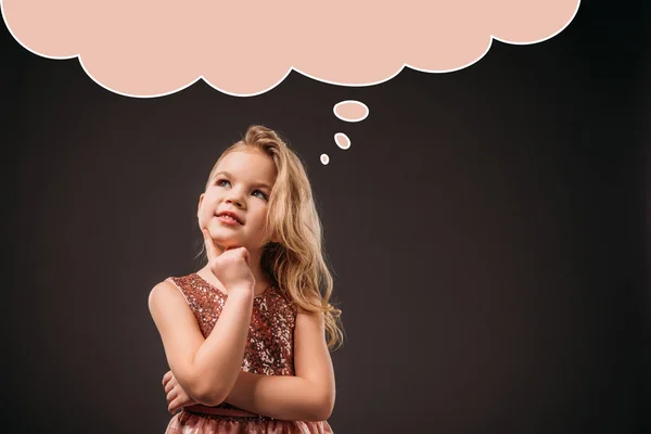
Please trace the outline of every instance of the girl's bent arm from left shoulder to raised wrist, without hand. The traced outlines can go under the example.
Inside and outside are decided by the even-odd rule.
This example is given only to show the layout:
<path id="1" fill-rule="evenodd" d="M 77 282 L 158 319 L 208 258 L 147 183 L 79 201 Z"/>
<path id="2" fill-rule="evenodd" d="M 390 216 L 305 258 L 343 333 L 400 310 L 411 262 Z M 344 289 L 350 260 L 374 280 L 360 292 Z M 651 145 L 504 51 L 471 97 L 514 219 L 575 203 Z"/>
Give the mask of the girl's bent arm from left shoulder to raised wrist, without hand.
<path id="1" fill-rule="evenodd" d="M 152 289 L 149 308 L 181 387 L 205 406 L 222 403 L 242 368 L 253 292 L 229 289 L 219 321 L 205 340 L 186 298 L 173 283 L 163 281 Z"/>

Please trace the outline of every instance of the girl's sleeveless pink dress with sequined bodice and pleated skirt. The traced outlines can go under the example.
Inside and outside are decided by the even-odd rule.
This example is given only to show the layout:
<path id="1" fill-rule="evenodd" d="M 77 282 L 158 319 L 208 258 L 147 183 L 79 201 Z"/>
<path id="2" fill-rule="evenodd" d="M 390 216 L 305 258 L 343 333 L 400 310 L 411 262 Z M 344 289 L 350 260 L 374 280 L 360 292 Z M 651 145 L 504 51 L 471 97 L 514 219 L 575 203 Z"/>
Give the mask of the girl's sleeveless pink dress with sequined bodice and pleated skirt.
<path id="1" fill-rule="evenodd" d="M 170 277 L 186 297 L 207 337 L 224 308 L 227 294 L 197 273 Z M 242 370 L 264 375 L 294 375 L 294 326 L 296 310 L 275 286 L 253 299 L 253 312 L 244 348 Z M 327 421 L 285 421 L 251 413 L 221 403 L 216 407 L 194 405 L 171 418 L 165 434 L 332 434 Z"/>

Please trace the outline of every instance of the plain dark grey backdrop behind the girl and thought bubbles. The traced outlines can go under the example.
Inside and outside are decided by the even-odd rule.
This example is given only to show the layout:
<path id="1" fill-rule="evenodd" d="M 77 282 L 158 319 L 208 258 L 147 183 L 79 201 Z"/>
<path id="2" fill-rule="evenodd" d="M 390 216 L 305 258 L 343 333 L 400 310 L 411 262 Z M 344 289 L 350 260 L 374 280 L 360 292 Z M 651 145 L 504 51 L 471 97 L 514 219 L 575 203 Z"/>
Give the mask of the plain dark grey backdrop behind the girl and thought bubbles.
<path id="1" fill-rule="evenodd" d="M 3 27 L 0 431 L 164 431 L 146 297 L 199 267 L 208 171 L 263 123 L 307 163 L 324 225 L 335 433 L 647 432 L 651 15 L 613 4 L 457 73 L 293 73 L 255 98 L 120 97 Z M 347 99 L 370 116 L 337 119 Z"/>

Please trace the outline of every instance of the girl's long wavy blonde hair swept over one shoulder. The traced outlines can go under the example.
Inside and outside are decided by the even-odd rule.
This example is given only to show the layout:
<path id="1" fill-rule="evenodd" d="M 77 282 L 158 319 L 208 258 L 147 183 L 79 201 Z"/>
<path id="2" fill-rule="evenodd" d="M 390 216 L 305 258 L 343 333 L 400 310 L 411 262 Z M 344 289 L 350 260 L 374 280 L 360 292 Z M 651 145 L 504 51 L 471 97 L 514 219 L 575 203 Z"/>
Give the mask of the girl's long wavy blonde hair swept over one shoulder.
<path id="1" fill-rule="evenodd" d="M 251 126 L 242 140 L 221 153 L 210 170 L 206 190 L 219 162 L 231 152 L 246 149 L 257 149 L 269 155 L 278 170 L 267 205 L 265 233 L 269 239 L 263 252 L 261 267 L 295 305 L 309 312 L 323 314 L 328 348 L 336 349 L 344 339 L 342 311 L 330 303 L 333 284 L 322 246 L 323 230 L 299 157 L 276 131 L 260 125 Z"/>

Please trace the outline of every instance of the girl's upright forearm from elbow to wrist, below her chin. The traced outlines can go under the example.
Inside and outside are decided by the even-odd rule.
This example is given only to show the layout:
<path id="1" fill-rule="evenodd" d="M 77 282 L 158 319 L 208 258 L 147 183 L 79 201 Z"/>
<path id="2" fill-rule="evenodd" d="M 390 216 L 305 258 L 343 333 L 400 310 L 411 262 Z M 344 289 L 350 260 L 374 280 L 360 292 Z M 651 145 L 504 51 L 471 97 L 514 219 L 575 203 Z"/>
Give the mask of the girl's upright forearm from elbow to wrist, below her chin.
<path id="1" fill-rule="evenodd" d="M 242 369 L 252 309 L 253 294 L 229 293 L 219 320 L 194 354 L 192 397 L 201 404 L 218 405 L 235 384 Z"/>

